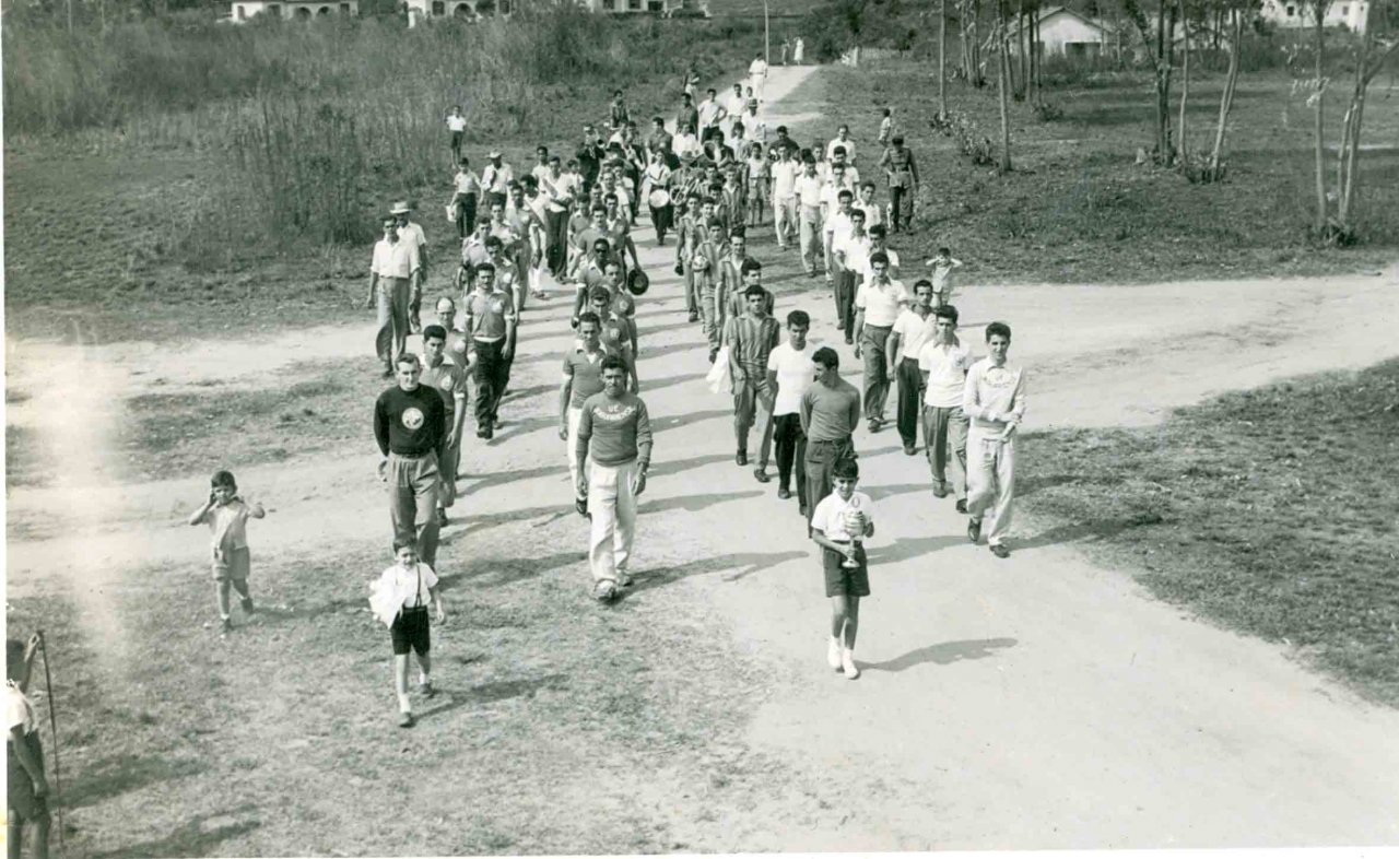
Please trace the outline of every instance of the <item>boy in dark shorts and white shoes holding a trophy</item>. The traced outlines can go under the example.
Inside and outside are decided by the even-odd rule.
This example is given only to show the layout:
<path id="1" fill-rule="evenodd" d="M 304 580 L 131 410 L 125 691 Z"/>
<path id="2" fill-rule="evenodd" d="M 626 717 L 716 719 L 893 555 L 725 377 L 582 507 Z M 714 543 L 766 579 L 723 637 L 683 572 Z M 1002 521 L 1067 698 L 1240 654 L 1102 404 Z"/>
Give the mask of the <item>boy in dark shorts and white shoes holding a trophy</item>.
<path id="1" fill-rule="evenodd" d="M 860 676 L 855 667 L 855 634 L 860 623 L 860 597 L 870 595 L 869 565 L 860 540 L 874 536 L 874 502 L 856 492 L 860 467 L 842 459 L 832 469 L 835 491 L 811 513 L 811 539 L 821 547 L 825 596 L 831 597 L 831 641 L 825 662 L 848 680 Z M 851 565 L 846 567 L 846 562 Z"/>

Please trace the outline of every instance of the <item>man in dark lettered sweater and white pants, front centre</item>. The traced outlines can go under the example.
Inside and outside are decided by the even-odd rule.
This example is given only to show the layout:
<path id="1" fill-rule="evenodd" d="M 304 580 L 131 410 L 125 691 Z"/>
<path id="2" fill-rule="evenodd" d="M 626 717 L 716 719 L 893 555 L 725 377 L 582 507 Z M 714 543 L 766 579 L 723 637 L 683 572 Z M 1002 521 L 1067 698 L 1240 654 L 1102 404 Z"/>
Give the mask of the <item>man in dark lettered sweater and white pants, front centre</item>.
<path id="1" fill-rule="evenodd" d="M 603 358 L 603 392 L 583 402 L 575 456 L 592 469 L 579 474 L 576 487 L 588 497 L 593 520 L 588 555 L 593 596 L 607 603 L 631 585 L 627 562 L 637 536 L 637 497 L 646 491 L 651 466 L 651 418 L 641 397 L 627 390 L 621 358 Z"/>

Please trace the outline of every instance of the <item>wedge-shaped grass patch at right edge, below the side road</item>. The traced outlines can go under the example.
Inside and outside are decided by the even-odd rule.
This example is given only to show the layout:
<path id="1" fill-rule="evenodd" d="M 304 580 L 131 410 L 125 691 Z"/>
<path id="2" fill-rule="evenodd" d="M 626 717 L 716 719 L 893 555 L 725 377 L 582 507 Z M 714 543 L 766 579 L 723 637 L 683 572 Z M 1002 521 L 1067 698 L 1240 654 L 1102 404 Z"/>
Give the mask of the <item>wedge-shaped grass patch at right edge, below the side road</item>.
<path id="1" fill-rule="evenodd" d="M 1024 443 L 1021 491 L 1052 533 L 1399 704 L 1399 361 Z"/>

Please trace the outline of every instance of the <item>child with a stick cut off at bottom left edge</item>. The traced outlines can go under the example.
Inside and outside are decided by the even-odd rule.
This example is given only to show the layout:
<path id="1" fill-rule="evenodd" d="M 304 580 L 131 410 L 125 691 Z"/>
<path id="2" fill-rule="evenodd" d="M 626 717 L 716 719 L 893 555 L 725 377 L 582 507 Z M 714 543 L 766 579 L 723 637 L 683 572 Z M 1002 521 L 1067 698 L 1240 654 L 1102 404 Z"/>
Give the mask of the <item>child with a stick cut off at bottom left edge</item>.
<path id="1" fill-rule="evenodd" d="M 39 743 L 39 719 L 34 704 L 25 693 L 29 688 L 29 670 L 34 655 L 39 649 L 39 637 L 32 635 L 29 644 L 17 638 L 6 641 L 4 665 L 4 712 L 10 723 L 6 734 L 6 795 L 10 807 L 10 824 L 6 837 L 10 839 L 10 859 L 18 859 L 24 845 L 24 827 L 34 831 L 35 859 L 49 856 L 49 782 L 43 776 L 43 746 Z"/>

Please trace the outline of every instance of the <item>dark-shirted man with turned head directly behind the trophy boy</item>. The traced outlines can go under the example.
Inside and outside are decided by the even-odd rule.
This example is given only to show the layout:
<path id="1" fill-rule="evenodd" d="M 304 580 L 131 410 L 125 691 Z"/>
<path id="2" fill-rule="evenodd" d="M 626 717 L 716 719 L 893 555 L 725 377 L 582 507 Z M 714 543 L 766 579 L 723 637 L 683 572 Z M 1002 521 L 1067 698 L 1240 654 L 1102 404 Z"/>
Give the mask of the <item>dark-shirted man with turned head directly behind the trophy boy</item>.
<path id="1" fill-rule="evenodd" d="M 830 346 L 811 354 L 816 383 L 802 395 L 802 432 L 806 435 L 806 516 L 835 487 L 835 463 L 855 459 L 855 428 L 860 424 L 860 392 L 841 378 L 841 357 Z"/>

